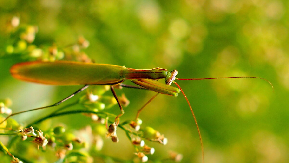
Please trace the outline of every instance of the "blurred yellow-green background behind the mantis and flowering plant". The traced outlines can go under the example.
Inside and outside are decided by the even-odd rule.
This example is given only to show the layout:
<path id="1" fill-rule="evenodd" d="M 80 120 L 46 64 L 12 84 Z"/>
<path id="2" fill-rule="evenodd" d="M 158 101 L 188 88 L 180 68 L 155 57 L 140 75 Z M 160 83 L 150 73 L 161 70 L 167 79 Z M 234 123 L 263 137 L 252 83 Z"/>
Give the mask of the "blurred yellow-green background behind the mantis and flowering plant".
<path id="1" fill-rule="evenodd" d="M 177 69 L 179 78 L 265 78 L 272 82 L 274 91 L 266 81 L 250 78 L 177 83 L 199 123 L 205 162 L 285 163 L 289 162 L 288 8 L 285 0 L 1 0 L 0 54 L 6 56 L 11 41 L 5 32 L 7 22 L 18 16 L 20 26 L 38 26 L 34 45 L 63 47 L 83 36 L 90 42 L 84 51 L 96 63 Z M 13 79 L 10 67 L 23 61 L 19 56 L 0 58 L 0 99 L 12 99 L 13 112 L 51 104 L 79 88 Z M 121 92 L 131 102 L 122 120 L 133 119 L 155 94 L 117 90 Z M 117 106 L 112 110 L 119 112 Z M 27 124 L 45 112 L 14 118 Z M 197 129 L 183 95 L 159 95 L 140 118 L 144 126 L 168 138 L 166 146 L 149 143 L 156 149 L 149 160 L 166 158 L 171 150 L 184 155 L 182 162 L 201 162 Z M 88 122 L 82 115 L 53 119 L 53 125 L 76 128 Z M 124 160 L 135 158 L 124 132 L 118 131 L 118 136 L 119 143 L 104 140 L 101 152 Z"/>

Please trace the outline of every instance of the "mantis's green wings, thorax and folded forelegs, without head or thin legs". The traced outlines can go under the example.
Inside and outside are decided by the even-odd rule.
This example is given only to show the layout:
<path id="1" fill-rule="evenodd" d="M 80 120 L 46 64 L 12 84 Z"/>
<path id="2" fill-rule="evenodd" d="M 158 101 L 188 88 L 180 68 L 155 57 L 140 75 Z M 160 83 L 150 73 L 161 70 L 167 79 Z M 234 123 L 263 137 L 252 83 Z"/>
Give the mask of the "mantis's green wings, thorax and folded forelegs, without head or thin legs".
<path id="1" fill-rule="evenodd" d="M 153 81 L 169 79 L 171 73 L 163 68 L 139 70 L 111 64 L 36 61 L 16 64 L 10 72 L 16 79 L 42 84 L 115 85 L 132 80 L 135 84 L 158 93 L 177 97 L 180 92 L 178 88 Z"/>

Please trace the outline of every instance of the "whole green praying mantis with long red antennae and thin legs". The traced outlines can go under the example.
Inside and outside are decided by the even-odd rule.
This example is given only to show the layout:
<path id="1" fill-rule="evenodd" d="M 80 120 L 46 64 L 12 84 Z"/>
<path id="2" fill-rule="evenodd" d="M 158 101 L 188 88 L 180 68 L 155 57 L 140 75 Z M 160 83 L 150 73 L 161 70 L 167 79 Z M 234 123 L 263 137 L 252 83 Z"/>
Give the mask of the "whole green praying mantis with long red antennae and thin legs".
<path id="1" fill-rule="evenodd" d="M 159 93 L 177 97 L 178 93 L 182 92 L 182 94 L 186 98 L 186 101 L 188 102 L 188 105 L 194 117 L 195 124 L 197 126 L 204 162 L 203 141 L 201 138 L 201 132 L 199 130 L 196 117 L 194 115 L 194 112 L 186 95 L 184 94 L 181 87 L 175 82 L 175 79 L 178 79 L 176 77 L 178 73 L 177 70 L 169 72 L 163 68 L 133 69 L 133 68 L 126 68 L 125 66 L 116 66 L 111 64 L 95 64 L 95 63 L 82 63 L 72 61 L 57 61 L 57 62 L 34 61 L 15 64 L 10 69 L 10 72 L 13 77 L 23 81 L 30 81 L 50 85 L 84 85 L 82 88 L 74 92 L 72 95 L 62 99 L 57 103 L 54 103 L 53 105 L 36 108 L 32 110 L 39 110 L 57 106 L 60 103 L 70 99 L 77 93 L 85 90 L 86 88 L 88 88 L 89 85 L 110 85 L 112 94 L 114 95 L 114 98 L 116 99 L 121 110 L 121 113 L 117 115 L 115 118 L 116 126 L 119 124 L 119 118 L 124 114 L 124 110 L 121 106 L 121 103 L 118 100 L 116 92 L 114 91 L 113 85 L 121 84 L 121 86 L 123 87 L 148 89 L 157 92 L 155 96 L 153 96 L 140 110 L 138 110 L 136 118 L 138 118 L 140 111 L 150 101 L 152 101 Z M 202 78 L 202 79 L 221 79 L 221 78 L 241 78 L 241 77 L 218 77 L 218 78 Z M 263 79 L 260 77 L 250 77 L 250 78 Z M 157 82 L 156 80 L 158 79 L 165 79 L 166 84 Z M 138 86 L 129 86 L 122 84 L 122 82 L 125 80 L 131 80 L 134 84 L 137 84 Z M 201 80 L 201 79 L 178 79 L 178 80 Z M 175 83 L 178 88 L 171 86 L 172 83 Z M 16 114 L 24 112 L 29 112 L 32 110 L 13 113 L 9 115 L 7 118 L 5 118 L 4 121 L 6 121 L 10 116 L 14 116 Z M 0 125 L 4 121 L 2 121 Z"/>

